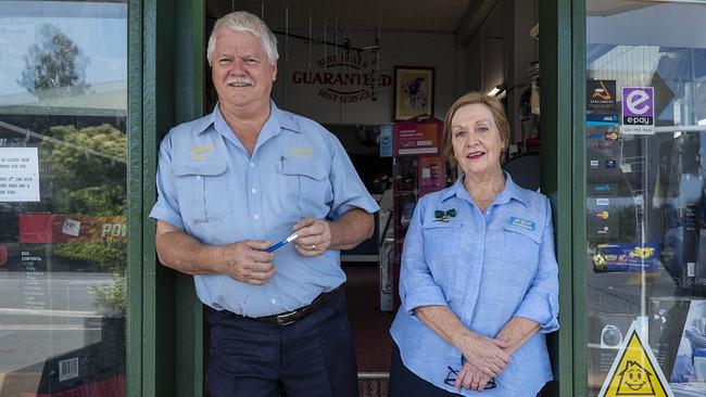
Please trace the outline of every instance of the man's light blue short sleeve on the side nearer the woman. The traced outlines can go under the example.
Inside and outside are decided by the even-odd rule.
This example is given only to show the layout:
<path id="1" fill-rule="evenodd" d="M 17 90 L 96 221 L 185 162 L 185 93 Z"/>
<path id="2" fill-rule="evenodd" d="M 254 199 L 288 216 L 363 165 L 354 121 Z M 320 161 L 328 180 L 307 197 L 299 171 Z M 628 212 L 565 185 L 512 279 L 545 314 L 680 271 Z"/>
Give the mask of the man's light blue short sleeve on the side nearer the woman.
<path id="1" fill-rule="evenodd" d="M 333 189 L 331 218 L 337 219 L 353 208 L 361 208 L 370 214 L 379 210 L 380 207 L 365 189 L 341 142 L 335 137 L 330 139 L 333 146 L 330 170 Z"/>

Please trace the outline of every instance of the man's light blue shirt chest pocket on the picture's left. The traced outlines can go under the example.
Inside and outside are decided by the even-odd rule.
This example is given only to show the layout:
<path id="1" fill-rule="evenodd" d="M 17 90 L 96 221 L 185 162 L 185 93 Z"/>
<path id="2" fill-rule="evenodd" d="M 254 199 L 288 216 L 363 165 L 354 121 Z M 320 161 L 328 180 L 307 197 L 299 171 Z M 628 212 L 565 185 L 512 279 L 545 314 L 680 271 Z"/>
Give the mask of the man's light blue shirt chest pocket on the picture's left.
<path id="1" fill-rule="evenodd" d="M 226 162 L 175 164 L 179 209 L 187 222 L 213 222 L 228 216 Z"/>

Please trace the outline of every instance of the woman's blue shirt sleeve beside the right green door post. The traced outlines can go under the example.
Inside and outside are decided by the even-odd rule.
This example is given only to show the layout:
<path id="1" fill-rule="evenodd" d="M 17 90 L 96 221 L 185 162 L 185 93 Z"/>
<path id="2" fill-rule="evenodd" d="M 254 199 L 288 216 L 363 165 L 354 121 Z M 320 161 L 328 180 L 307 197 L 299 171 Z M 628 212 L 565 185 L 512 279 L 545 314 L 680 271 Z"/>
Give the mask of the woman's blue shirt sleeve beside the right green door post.
<path id="1" fill-rule="evenodd" d="M 554 226 L 552 223 L 552 207 L 549 198 L 546 204 L 546 223 L 539 253 L 537 274 L 532 280 L 522 303 L 515 316 L 525 317 L 540 324 L 540 333 L 550 333 L 559 329 L 558 313 L 558 266 L 554 252 Z"/>

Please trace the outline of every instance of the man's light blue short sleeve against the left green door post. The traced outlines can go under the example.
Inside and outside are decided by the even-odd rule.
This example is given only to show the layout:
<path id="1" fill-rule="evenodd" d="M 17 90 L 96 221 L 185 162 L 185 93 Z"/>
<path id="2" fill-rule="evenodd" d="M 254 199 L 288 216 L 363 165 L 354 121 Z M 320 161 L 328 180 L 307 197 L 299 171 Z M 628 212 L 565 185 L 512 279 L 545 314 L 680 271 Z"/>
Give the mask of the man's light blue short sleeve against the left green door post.
<path id="1" fill-rule="evenodd" d="M 172 140 L 167 135 L 160 144 L 160 159 L 156 168 L 156 203 L 150 212 L 150 218 L 163 220 L 179 229 L 184 229 L 179 198 L 172 176 Z"/>

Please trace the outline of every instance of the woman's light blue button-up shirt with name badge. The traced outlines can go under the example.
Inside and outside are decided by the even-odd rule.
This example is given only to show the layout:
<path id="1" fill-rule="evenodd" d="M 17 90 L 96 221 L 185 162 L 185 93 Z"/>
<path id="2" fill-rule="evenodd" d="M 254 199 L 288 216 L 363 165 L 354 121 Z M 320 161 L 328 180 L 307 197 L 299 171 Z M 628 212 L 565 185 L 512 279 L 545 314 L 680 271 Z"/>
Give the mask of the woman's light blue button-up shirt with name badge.
<path id="1" fill-rule="evenodd" d="M 513 354 L 483 396 L 535 396 L 552 380 L 545 333 L 558 329 L 558 278 L 549 200 L 519 188 L 505 175 L 505 189 L 481 213 L 458 179 L 423 197 L 404 241 L 402 307 L 391 334 L 402 360 L 419 377 L 449 392 L 451 367 L 462 353 L 414 316 L 419 306 L 447 306 L 471 331 L 494 337 L 514 316 L 539 322 L 540 332 Z M 438 210 L 455 209 L 447 221 Z"/>

